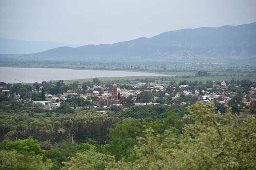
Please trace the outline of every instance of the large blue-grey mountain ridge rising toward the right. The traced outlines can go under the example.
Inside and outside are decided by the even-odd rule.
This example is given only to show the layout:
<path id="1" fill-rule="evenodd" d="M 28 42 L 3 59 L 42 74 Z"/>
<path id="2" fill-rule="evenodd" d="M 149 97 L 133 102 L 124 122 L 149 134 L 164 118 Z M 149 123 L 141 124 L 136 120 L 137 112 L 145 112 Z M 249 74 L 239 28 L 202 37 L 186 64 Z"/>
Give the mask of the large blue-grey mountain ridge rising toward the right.
<path id="1" fill-rule="evenodd" d="M 180 29 L 157 36 L 140 37 L 114 44 L 58 47 L 35 54 L 18 55 L 30 59 L 81 61 L 200 61 L 255 60 L 256 22 L 237 26 Z M 15 57 L 18 57 L 15 55 Z M 3 56 L 1 57 L 13 57 Z"/>

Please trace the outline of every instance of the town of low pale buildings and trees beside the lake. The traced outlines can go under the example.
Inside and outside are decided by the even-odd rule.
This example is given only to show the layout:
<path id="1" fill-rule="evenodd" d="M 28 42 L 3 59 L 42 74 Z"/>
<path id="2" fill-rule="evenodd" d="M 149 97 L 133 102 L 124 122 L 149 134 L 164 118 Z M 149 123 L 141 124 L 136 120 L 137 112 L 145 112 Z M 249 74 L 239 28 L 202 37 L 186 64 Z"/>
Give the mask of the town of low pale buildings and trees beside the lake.
<path id="1" fill-rule="evenodd" d="M 18 102 L 25 110 L 54 111 L 86 110 L 90 107 L 97 112 L 107 114 L 111 106 L 127 108 L 143 105 L 189 105 L 196 101 L 214 100 L 215 106 L 225 111 L 231 106 L 233 112 L 255 113 L 255 82 L 250 80 L 231 80 L 222 82 L 169 82 L 137 83 L 137 84 L 102 84 L 98 78 L 93 82 L 66 85 L 63 80 L 53 83 L 35 82 L 33 86 L 23 84 L 0 83 L 2 96 Z M 1 104 L 3 106 L 3 104 Z M 61 106 L 61 107 L 60 107 Z M 59 108 L 60 107 L 60 108 Z M 65 112 L 68 113 L 68 110 Z"/>

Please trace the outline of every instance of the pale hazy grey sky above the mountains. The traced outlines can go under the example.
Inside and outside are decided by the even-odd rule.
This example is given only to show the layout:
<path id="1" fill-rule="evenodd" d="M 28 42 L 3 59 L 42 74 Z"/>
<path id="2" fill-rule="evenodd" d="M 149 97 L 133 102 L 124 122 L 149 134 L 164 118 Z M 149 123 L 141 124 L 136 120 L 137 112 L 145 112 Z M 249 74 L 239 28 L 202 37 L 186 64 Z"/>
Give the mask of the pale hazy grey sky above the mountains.
<path id="1" fill-rule="evenodd" d="M 0 37 L 86 45 L 256 21 L 256 0 L 0 0 Z"/>

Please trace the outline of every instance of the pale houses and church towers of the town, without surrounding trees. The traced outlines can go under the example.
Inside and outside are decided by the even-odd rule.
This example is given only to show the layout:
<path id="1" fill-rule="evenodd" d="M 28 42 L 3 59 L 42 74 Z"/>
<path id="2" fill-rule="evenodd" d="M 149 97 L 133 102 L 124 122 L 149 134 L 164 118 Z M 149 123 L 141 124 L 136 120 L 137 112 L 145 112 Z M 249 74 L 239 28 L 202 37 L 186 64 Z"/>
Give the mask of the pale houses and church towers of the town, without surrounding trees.
<path id="1" fill-rule="evenodd" d="M 144 86 L 144 87 L 146 87 L 146 90 L 144 90 L 144 91 L 149 91 L 149 92 L 159 92 L 159 91 L 166 90 L 162 84 L 138 83 L 138 84 L 133 84 L 132 86 L 134 89 Z M 194 91 L 189 91 L 189 85 L 180 85 L 179 87 L 180 87 L 181 91 L 179 91 L 179 92 L 175 92 L 175 89 L 176 89 L 175 87 L 172 88 L 171 86 L 169 86 L 175 92 L 174 93 L 175 95 L 165 93 L 165 97 L 163 97 L 163 98 L 167 99 L 167 98 L 171 97 L 172 100 L 174 101 L 173 104 L 184 105 L 187 103 L 186 102 L 177 103 L 177 102 L 175 102 L 175 100 L 178 99 L 182 95 L 185 95 L 185 96 L 191 95 L 195 98 L 198 98 L 199 100 L 202 100 L 203 102 L 217 100 L 219 103 L 226 105 L 234 96 L 237 95 L 237 93 L 235 93 L 235 92 L 226 93 L 225 90 L 223 90 L 223 92 L 212 92 L 212 89 L 215 86 L 216 86 L 215 81 L 213 81 L 212 88 L 208 88 L 206 91 L 204 91 L 204 90 L 199 91 L 198 89 L 194 90 Z M 133 100 L 136 101 L 137 95 L 140 94 L 140 92 L 142 92 L 141 90 L 120 89 L 117 87 L 117 84 L 115 84 L 115 83 L 112 86 L 112 91 L 110 91 L 108 87 L 102 87 L 99 85 L 94 85 L 93 87 L 87 87 L 87 88 L 88 88 L 88 90 L 93 91 L 93 93 L 77 94 L 74 92 L 74 90 L 68 90 L 67 93 L 60 94 L 60 95 L 45 94 L 46 101 L 32 101 L 31 99 L 27 99 L 27 100 L 23 100 L 23 101 L 24 102 L 33 102 L 33 104 L 42 104 L 44 106 L 45 110 L 52 110 L 53 108 L 60 107 L 61 102 L 65 102 L 65 100 L 67 98 L 70 98 L 73 96 L 80 96 L 84 99 L 88 99 L 88 98 L 97 96 L 97 100 L 94 100 L 94 101 L 91 100 L 91 103 L 94 107 L 101 105 L 102 102 L 105 102 L 108 104 L 116 104 L 117 106 L 121 106 L 121 104 L 120 104 L 121 97 L 128 98 L 128 96 L 132 95 Z M 227 85 L 224 81 L 221 83 L 220 88 L 223 88 L 223 89 L 227 88 Z M 96 89 L 97 90 L 100 89 L 101 91 L 96 91 Z M 2 92 L 5 92 L 5 91 L 7 91 L 7 90 L 2 90 Z M 208 91 L 211 91 L 211 92 L 208 92 Z M 256 92 L 256 88 L 252 88 L 250 91 L 250 93 L 252 93 L 252 94 L 255 94 L 255 92 Z M 19 101 L 22 101 L 22 99 L 20 99 L 19 94 L 14 95 L 14 98 Z M 157 102 L 157 99 L 158 99 L 158 97 L 154 96 L 152 102 L 147 103 L 147 104 L 159 104 Z M 253 101 L 256 101 L 256 99 L 253 99 L 253 98 L 242 99 L 242 102 L 245 103 L 245 105 L 250 105 Z M 143 106 L 143 105 L 146 105 L 146 103 L 138 103 L 138 102 L 135 103 L 135 106 Z M 83 109 L 85 107 L 71 107 L 71 108 L 72 109 Z M 102 112 L 104 112 L 104 111 L 102 111 Z M 104 113 L 106 113 L 106 112 L 104 112 Z"/>

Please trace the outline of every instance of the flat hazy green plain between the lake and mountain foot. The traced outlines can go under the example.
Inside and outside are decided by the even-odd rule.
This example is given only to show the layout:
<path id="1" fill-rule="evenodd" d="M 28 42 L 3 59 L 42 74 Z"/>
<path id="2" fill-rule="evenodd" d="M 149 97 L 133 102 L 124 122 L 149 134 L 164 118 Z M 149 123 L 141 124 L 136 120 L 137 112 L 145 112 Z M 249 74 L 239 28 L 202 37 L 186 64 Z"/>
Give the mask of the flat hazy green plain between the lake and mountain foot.
<path id="1" fill-rule="evenodd" d="M 156 63 L 156 64 L 99 64 L 89 62 L 8 62 L 2 61 L 0 67 L 27 68 L 73 68 L 86 70 L 132 70 L 132 71 L 161 71 L 161 72 L 256 72 L 255 64 L 240 63 Z"/>

